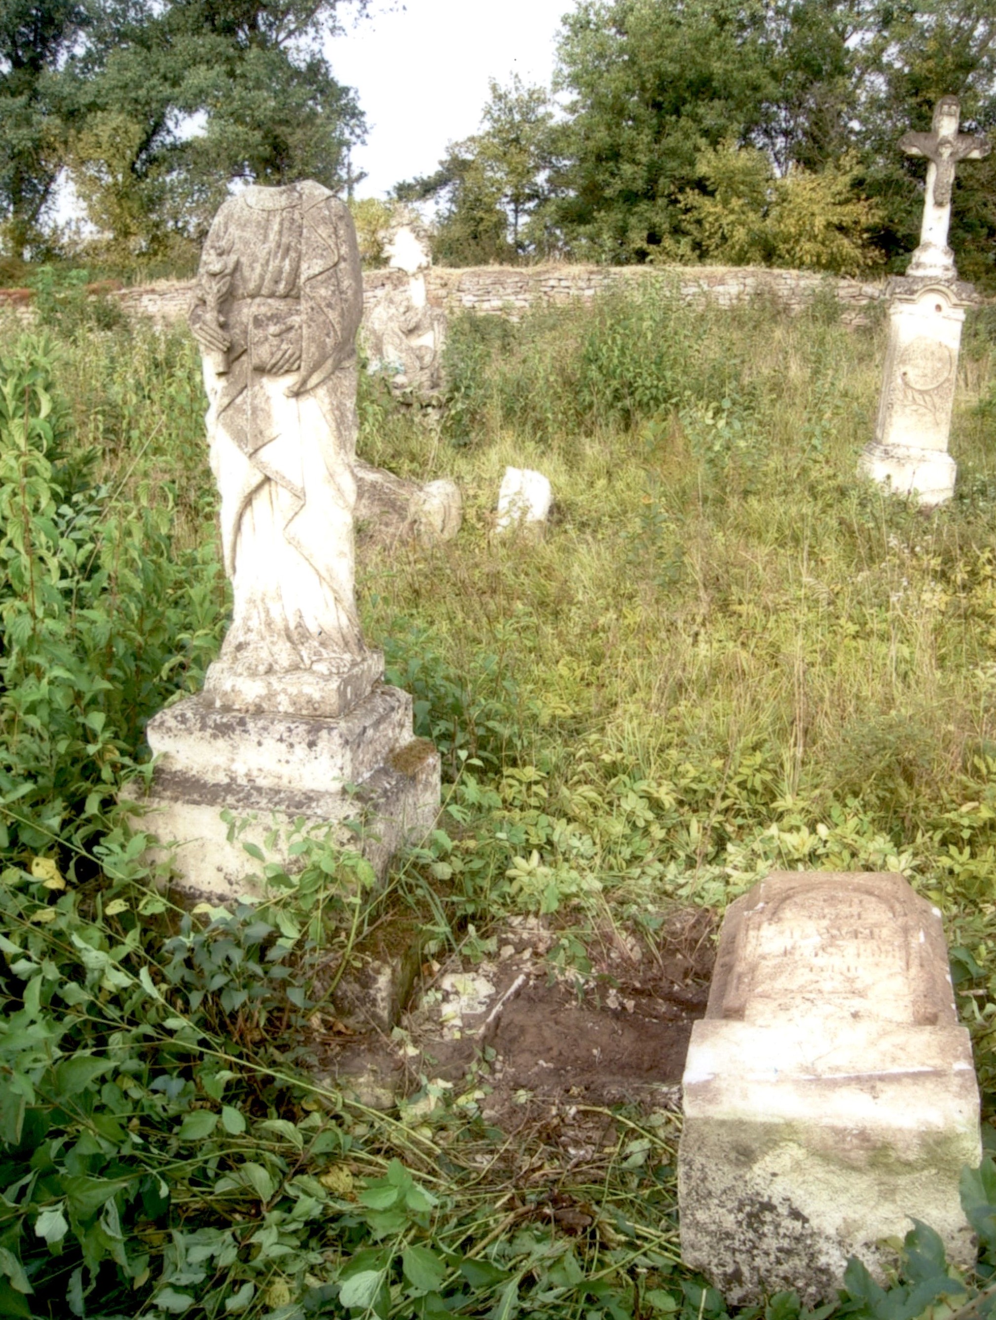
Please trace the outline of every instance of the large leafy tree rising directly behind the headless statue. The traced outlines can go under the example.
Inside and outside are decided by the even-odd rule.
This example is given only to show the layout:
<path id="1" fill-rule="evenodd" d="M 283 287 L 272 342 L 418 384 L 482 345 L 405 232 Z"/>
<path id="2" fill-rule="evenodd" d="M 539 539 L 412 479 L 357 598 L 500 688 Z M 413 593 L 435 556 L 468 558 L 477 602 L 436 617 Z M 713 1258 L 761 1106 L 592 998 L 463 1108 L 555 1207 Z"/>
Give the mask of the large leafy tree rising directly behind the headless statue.
<path id="1" fill-rule="evenodd" d="M 363 117 L 322 41 L 366 0 L 86 3 L 41 127 L 116 257 L 198 239 L 232 178 L 342 182 Z"/>

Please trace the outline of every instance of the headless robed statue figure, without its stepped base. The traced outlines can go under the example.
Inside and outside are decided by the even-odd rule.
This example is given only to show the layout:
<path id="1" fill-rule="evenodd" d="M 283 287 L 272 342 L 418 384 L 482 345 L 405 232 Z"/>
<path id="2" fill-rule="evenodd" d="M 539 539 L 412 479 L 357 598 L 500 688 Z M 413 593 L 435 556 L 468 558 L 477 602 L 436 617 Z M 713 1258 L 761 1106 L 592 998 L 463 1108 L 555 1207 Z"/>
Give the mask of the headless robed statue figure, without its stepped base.
<path id="1" fill-rule="evenodd" d="M 353 594 L 358 269 L 345 207 L 317 183 L 247 189 L 207 236 L 190 321 L 197 333 L 219 317 L 231 341 L 223 358 L 205 352 L 205 384 L 234 593 L 219 664 L 234 675 L 321 673 L 332 657 L 363 653 Z M 300 368 L 288 372 L 289 345 Z"/>

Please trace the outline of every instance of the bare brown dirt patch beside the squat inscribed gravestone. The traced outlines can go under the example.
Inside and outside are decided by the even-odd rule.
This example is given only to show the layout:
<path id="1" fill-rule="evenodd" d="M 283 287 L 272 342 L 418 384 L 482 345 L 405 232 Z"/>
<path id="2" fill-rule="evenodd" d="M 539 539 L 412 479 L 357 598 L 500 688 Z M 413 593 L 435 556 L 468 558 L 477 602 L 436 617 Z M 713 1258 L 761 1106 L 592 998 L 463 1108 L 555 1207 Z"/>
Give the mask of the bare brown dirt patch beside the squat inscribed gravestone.
<path id="1" fill-rule="evenodd" d="M 564 1110 L 678 1109 L 713 929 L 711 913 L 688 908 L 653 933 L 613 927 L 581 948 L 550 920 L 513 917 L 494 953 L 424 964 L 390 1034 L 326 1036 L 322 1071 L 374 1107 L 427 1082 L 476 1088 L 485 1119 L 505 1133 Z"/>

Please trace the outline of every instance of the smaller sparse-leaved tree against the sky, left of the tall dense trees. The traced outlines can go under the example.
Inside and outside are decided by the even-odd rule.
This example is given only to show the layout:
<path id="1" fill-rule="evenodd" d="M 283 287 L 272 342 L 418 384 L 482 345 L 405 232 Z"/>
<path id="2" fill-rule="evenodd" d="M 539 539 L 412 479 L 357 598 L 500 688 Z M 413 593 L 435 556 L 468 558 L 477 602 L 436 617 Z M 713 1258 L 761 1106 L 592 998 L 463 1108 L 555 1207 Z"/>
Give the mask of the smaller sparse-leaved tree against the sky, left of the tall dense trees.
<path id="1" fill-rule="evenodd" d="M 547 226 L 557 148 L 550 94 L 518 74 L 507 87 L 489 86 L 481 132 L 450 143 L 435 174 L 395 189 L 403 201 L 441 203 L 433 252 L 446 265 L 548 256 L 556 246 Z"/>

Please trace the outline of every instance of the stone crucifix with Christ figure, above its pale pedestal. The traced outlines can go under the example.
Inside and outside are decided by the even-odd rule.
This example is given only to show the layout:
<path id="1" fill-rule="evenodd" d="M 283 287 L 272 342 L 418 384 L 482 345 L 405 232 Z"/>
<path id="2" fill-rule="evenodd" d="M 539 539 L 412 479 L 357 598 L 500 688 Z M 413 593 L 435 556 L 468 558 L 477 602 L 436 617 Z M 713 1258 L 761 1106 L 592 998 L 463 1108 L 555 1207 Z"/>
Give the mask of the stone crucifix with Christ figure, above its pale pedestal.
<path id="1" fill-rule="evenodd" d="M 989 154 L 989 143 L 984 137 L 958 132 L 960 112 L 956 96 L 942 96 L 934 107 L 931 131 L 904 133 L 900 139 L 900 147 L 907 156 L 926 156 L 930 162 L 919 247 L 913 253 L 907 275 L 954 277 L 956 273 L 955 257 L 947 246 L 955 165 Z"/>

